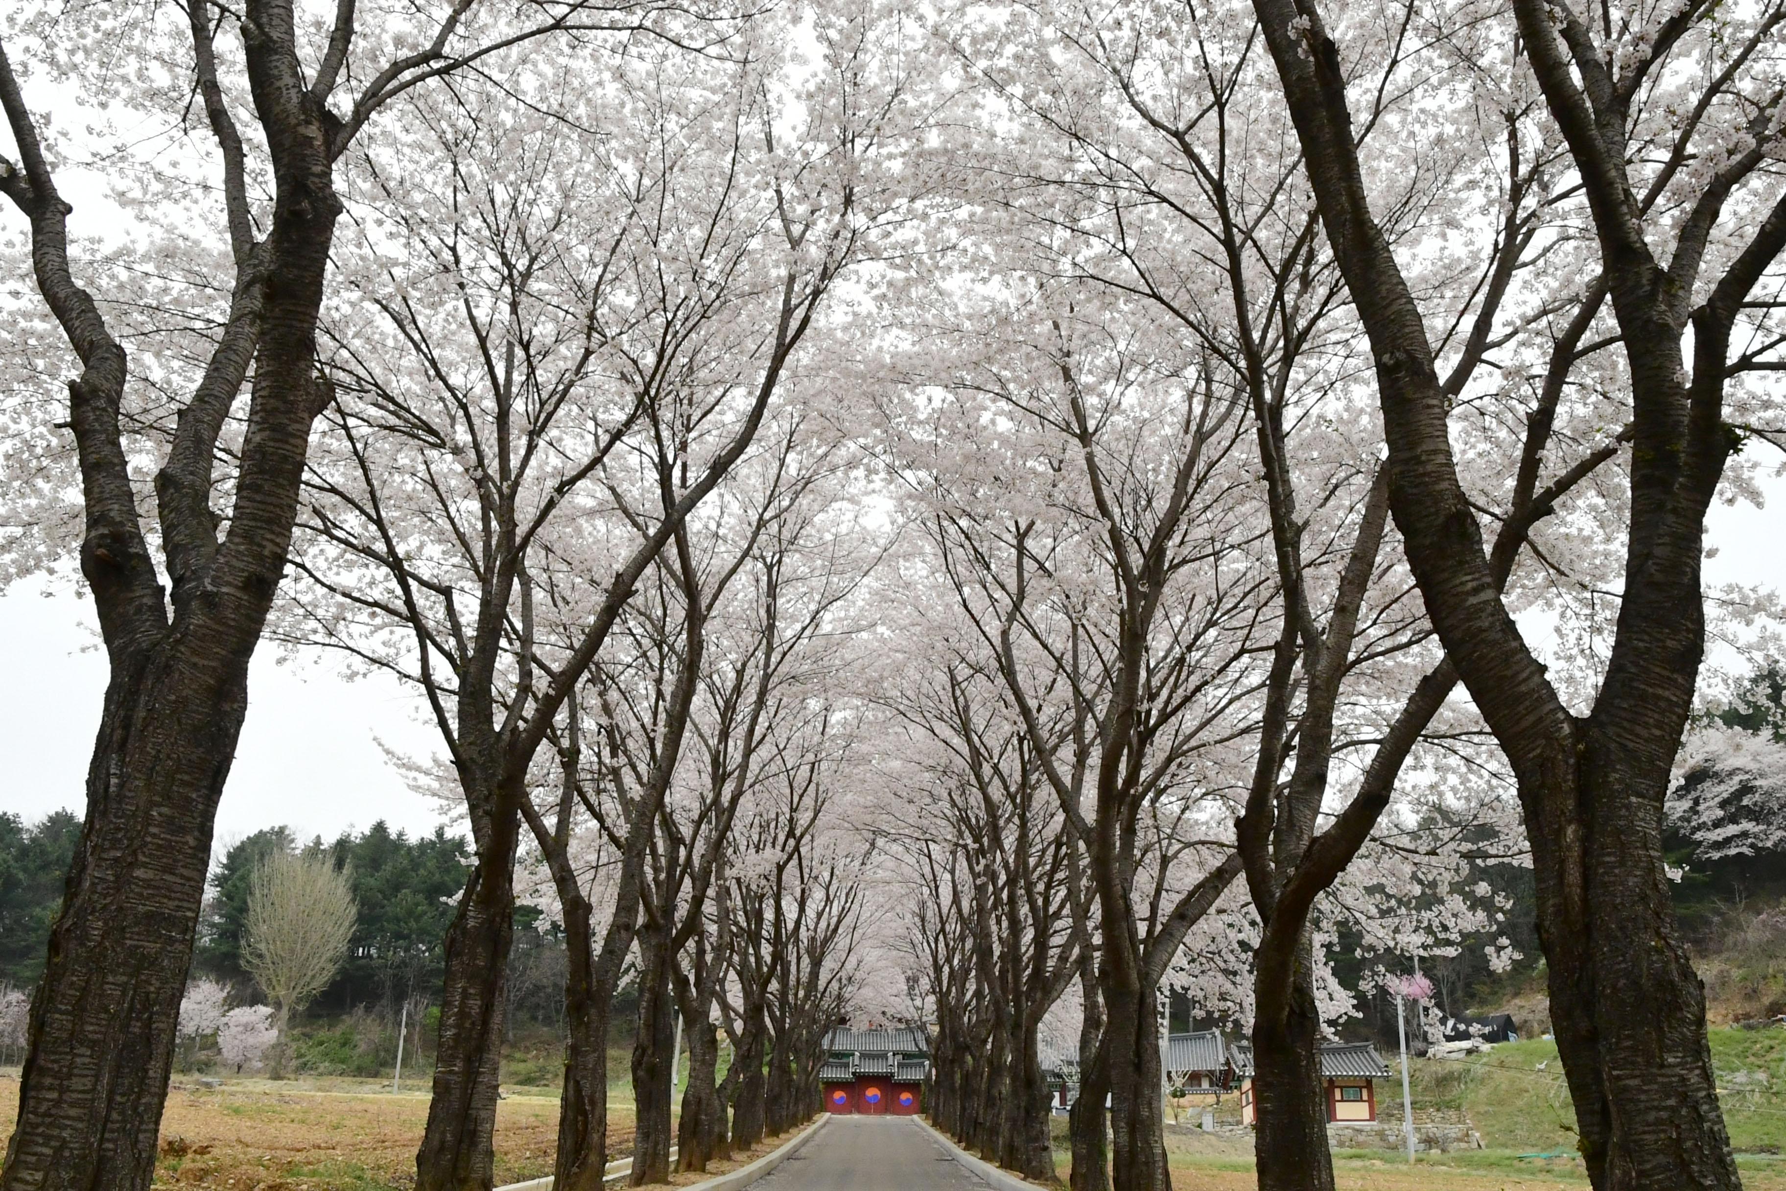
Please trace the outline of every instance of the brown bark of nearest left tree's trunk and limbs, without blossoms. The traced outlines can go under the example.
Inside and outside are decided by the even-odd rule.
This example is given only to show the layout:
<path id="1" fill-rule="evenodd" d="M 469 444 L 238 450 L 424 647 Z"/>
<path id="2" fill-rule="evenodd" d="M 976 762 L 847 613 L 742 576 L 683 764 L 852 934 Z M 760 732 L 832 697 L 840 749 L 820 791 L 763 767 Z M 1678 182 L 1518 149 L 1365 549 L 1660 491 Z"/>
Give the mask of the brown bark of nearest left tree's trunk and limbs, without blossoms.
<path id="1" fill-rule="evenodd" d="M 316 312 L 341 212 L 330 130 L 305 86 L 289 7 L 250 2 L 246 16 L 245 29 L 255 30 L 243 37 L 248 84 L 275 198 L 266 239 L 234 243 L 230 325 L 180 411 L 164 468 L 171 598 L 143 537 L 120 439 L 125 354 L 70 273 L 70 205 L 0 50 L 0 105 L 21 159 L 21 168 L 7 162 L 0 193 L 30 218 L 38 287 L 82 362 L 68 386 L 86 505 L 80 568 L 111 664 L 88 766 L 88 818 L 32 998 L 18 1123 L 0 1173 L 5 1191 L 146 1191 L 154 1180 L 216 805 L 246 712 L 248 659 L 291 545 L 311 423 L 329 396 L 316 380 Z M 209 54 L 207 34 L 200 41 L 198 52 Z M 227 120 L 216 127 L 220 137 L 234 136 Z M 239 157 L 232 161 L 230 177 L 239 179 Z M 239 211 L 234 198 L 229 205 Z M 250 359 L 246 430 L 220 543 L 209 505 L 216 434 Z"/>

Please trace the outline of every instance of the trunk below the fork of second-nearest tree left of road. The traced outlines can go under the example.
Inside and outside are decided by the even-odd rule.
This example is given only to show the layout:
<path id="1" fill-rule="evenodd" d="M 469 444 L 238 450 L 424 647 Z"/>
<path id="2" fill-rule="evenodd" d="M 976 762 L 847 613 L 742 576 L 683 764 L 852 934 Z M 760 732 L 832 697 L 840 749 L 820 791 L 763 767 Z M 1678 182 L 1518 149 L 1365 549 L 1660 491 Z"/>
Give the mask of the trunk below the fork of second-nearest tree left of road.
<path id="1" fill-rule="evenodd" d="M 514 936 L 520 811 L 504 800 L 489 843 L 446 932 L 446 980 L 434 1055 L 434 1096 L 416 1152 L 416 1191 L 489 1191 L 495 1184 L 502 1011 Z"/>

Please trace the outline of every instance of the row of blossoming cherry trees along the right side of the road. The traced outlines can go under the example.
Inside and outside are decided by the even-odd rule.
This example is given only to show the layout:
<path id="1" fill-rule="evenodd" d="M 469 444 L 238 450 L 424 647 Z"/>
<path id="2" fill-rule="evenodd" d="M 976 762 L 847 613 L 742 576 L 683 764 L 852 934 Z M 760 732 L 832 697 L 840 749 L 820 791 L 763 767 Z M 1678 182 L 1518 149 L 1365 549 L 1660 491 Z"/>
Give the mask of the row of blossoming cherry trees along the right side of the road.
<path id="1" fill-rule="evenodd" d="M 1052 1170 L 998 1098 L 1041 1112 L 1014 1020 L 1079 964 L 1073 1182 L 1104 1186 L 1109 1096 L 1114 1186 L 1168 1186 L 1154 995 L 1241 877 L 1259 1180 L 1331 1187 L 1323 927 L 1372 907 L 1354 886 L 1529 841 L 1595 1186 L 1738 1186 L 1661 829 L 1704 512 L 1777 434 L 1745 377 L 1779 366 L 1786 16 L 1327 20 L 938 21 L 1000 129 L 957 145 L 984 255 L 925 295 L 947 368 L 884 409 L 931 543 L 909 582 L 956 605 L 932 632 L 959 612 L 947 691 L 904 712 L 952 754 L 911 832 L 913 970 L 959 1064 L 938 1109 Z"/>

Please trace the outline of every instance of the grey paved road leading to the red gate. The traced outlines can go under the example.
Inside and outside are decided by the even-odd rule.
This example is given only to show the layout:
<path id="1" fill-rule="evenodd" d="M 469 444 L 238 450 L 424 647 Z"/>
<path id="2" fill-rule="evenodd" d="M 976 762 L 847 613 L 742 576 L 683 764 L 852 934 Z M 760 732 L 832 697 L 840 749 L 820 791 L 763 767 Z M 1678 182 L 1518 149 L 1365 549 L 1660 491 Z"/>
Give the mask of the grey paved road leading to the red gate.
<path id="1" fill-rule="evenodd" d="M 834 1116 L 750 1191 L 968 1191 L 986 1184 L 909 1116 Z"/>

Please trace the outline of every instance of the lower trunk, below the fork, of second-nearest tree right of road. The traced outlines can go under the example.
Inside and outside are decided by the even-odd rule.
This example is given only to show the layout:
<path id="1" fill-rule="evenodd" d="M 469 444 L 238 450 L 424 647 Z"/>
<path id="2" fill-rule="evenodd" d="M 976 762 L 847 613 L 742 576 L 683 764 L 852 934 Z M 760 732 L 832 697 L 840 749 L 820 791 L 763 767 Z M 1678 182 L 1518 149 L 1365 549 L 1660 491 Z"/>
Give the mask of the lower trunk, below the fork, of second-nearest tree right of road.
<path id="1" fill-rule="evenodd" d="M 1259 1191 L 1332 1191 L 1327 1104 L 1320 1064 L 1322 1018 L 1309 982 L 1313 948 L 1304 932 L 1289 996 L 1256 991 L 1264 1007 L 1252 1023 L 1254 1154 Z M 1257 982 L 1257 977 L 1256 977 Z M 1272 1007 L 1282 1012 L 1272 1012 Z"/>

